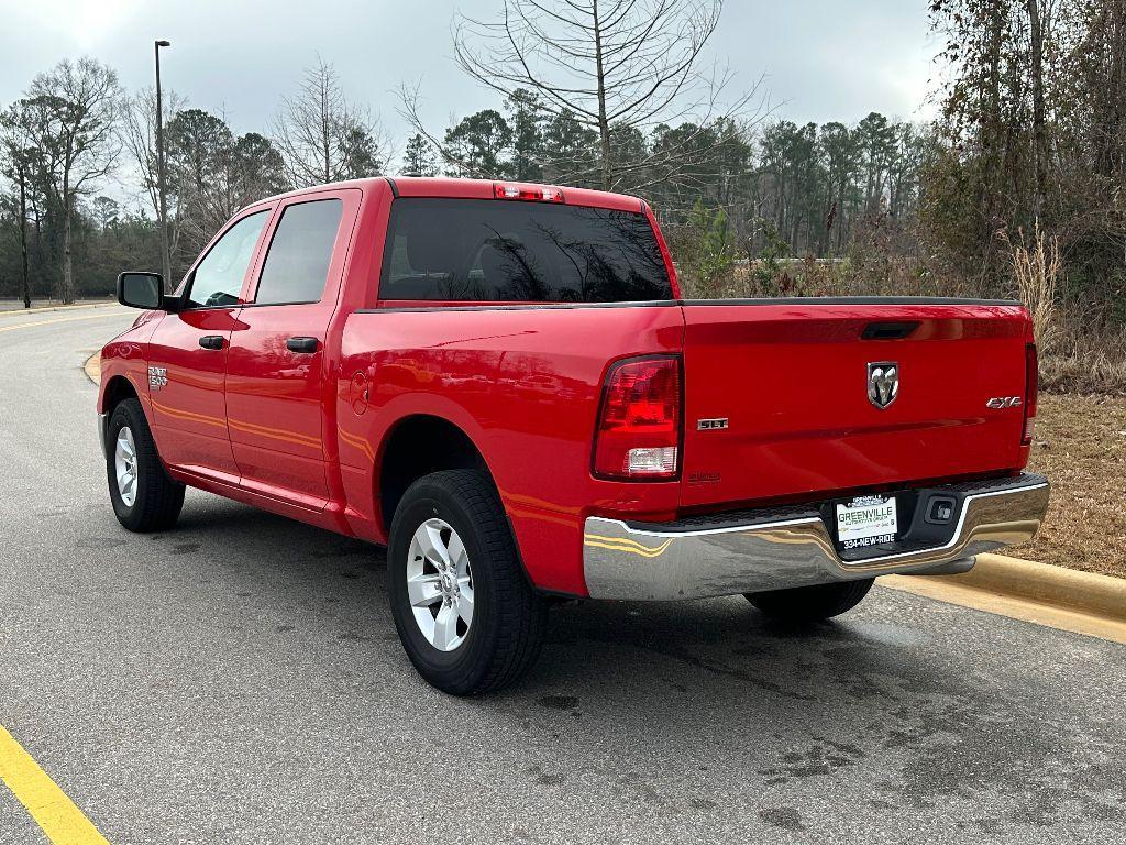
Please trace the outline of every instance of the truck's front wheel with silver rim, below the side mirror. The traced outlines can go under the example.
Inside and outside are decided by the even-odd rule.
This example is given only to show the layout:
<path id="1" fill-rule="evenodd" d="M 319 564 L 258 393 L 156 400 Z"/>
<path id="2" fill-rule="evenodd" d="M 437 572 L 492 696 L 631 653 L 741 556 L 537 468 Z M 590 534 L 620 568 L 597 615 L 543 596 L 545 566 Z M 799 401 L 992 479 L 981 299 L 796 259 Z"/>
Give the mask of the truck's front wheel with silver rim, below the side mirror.
<path id="1" fill-rule="evenodd" d="M 124 438 L 123 432 L 127 432 Z M 118 453 L 127 454 L 122 439 L 126 444 L 132 442 L 133 446 L 132 484 L 118 482 Z M 184 507 L 184 484 L 169 478 L 164 470 L 149 420 L 136 399 L 119 402 L 109 417 L 106 429 L 106 479 L 114 514 L 124 527 L 145 534 L 166 531 L 176 525 L 180 508 Z"/>

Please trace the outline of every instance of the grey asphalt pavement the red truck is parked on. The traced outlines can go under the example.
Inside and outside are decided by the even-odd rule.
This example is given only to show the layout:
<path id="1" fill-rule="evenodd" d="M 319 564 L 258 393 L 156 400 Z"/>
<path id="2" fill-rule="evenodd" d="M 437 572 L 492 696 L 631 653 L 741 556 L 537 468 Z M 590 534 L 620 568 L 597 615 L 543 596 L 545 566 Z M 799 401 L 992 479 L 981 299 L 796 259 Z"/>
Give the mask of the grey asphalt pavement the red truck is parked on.
<path id="1" fill-rule="evenodd" d="M 81 364 L 132 318 L 0 315 L 0 726 L 110 843 L 1126 842 L 1126 646 L 888 589 L 806 632 L 569 604 L 456 700 L 378 549 L 195 491 L 126 533 Z"/>

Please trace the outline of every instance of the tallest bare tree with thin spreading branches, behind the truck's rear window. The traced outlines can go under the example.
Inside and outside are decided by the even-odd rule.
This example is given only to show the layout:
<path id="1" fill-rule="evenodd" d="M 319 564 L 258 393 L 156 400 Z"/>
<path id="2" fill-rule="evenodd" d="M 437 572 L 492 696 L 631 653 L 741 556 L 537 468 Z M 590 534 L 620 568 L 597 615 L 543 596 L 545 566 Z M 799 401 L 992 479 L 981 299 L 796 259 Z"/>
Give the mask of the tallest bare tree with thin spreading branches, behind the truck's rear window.
<path id="1" fill-rule="evenodd" d="M 696 139 L 641 160 L 615 155 L 614 135 L 659 123 L 705 126 L 741 114 L 751 92 L 720 106 L 729 72 L 701 72 L 704 47 L 723 0 L 504 0 L 499 19 L 455 18 L 462 69 L 506 97 L 530 91 L 552 116 L 566 114 L 598 133 L 598 181 L 609 190 L 638 171 L 668 178 L 700 154 Z M 408 119 L 420 128 L 417 99 L 403 89 Z M 440 145 L 439 145 L 440 149 Z"/>

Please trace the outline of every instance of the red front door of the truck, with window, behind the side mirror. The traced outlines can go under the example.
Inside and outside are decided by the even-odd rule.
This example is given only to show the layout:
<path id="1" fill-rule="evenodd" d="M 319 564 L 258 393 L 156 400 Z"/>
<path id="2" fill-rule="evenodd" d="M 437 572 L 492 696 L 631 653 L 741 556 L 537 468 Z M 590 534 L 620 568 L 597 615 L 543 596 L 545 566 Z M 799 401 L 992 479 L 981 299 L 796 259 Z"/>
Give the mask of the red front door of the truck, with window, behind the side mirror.
<path id="1" fill-rule="evenodd" d="M 243 282 L 272 208 L 232 221 L 188 273 L 184 308 L 149 344 L 149 398 L 161 457 L 235 483 L 223 382 Z"/>

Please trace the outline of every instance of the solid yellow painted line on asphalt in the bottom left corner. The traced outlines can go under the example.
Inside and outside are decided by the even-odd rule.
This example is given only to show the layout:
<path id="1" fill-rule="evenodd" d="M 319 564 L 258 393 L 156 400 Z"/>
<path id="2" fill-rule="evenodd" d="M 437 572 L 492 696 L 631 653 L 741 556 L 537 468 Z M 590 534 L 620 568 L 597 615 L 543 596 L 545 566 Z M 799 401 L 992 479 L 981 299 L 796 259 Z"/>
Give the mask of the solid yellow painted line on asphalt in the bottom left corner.
<path id="1" fill-rule="evenodd" d="M 3 726 L 0 726 L 0 780 L 54 845 L 109 845 Z"/>

